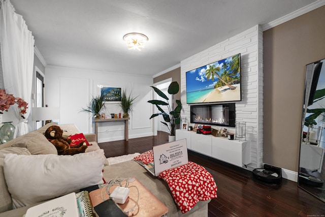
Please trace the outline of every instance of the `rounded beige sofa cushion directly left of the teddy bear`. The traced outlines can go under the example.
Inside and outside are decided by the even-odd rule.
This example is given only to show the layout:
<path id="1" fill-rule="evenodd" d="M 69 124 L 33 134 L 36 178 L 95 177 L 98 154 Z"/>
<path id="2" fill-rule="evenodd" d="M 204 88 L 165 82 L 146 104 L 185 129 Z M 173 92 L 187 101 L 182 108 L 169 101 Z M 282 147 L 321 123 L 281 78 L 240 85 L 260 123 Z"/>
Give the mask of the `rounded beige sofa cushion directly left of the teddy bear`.
<path id="1" fill-rule="evenodd" d="M 55 146 L 38 131 L 16 138 L 11 147 L 27 148 L 31 154 L 57 154 Z"/>

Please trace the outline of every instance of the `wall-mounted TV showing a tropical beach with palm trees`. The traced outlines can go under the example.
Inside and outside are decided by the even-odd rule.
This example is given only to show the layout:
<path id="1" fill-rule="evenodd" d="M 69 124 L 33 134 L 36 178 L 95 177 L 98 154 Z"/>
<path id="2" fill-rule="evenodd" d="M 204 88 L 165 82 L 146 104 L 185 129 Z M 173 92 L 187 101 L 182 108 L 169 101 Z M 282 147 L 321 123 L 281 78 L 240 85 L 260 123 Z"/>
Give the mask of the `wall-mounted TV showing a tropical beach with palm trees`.
<path id="1" fill-rule="evenodd" d="M 240 54 L 186 72 L 187 103 L 240 100 Z"/>

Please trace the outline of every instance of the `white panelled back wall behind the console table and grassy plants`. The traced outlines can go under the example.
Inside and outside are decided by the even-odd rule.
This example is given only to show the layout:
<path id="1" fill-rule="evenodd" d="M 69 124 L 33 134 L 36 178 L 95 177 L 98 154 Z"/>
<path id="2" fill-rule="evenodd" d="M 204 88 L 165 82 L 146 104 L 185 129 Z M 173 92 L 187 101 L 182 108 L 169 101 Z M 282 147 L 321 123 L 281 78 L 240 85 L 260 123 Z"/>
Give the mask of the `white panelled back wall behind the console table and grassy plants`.
<path id="1" fill-rule="evenodd" d="M 152 77 L 120 74 L 85 69 L 47 66 L 45 70 L 46 104 L 60 107 L 60 124 L 75 123 L 83 133 L 93 133 L 94 123 L 89 113 L 80 112 L 86 108 L 92 96 L 100 94 L 98 85 L 126 88 L 132 91 L 135 100 L 134 112 L 130 114 L 129 138 L 153 135 L 152 120 L 149 120 L 152 106 Z M 122 112 L 117 103 L 107 103 L 106 113 Z M 98 141 L 107 142 L 124 139 L 123 121 L 99 123 Z"/>

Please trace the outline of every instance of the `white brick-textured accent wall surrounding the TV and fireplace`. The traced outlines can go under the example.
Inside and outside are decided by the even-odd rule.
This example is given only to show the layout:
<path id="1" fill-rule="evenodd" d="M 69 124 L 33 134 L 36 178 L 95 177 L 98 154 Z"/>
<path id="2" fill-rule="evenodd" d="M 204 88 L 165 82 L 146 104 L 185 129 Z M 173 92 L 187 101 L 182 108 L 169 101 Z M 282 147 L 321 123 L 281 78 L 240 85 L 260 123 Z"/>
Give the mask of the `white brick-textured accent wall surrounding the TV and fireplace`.
<path id="1" fill-rule="evenodd" d="M 236 122 L 246 122 L 246 140 L 251 143 L 249 169 L 263 164 L 263 33 L 256 25 L 181 61 L 182 117 L 190 120 L 186 104 L 186 72 L 241 53 L 242 101 L 236 103 Z M 235 128 L 228 129 L 235 133 Z"/>

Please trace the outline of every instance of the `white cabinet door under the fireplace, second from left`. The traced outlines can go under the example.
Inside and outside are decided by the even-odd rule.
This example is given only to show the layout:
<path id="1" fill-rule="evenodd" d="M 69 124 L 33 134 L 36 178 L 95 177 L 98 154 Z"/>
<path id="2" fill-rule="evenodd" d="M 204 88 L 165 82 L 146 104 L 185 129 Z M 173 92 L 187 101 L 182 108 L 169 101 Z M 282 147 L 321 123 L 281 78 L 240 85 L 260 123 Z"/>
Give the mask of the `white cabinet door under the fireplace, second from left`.
<path id="1" fill-rule="evenodd" d="M 191 133 L 191 149 L 211 156 L 211 136 Z"/>

